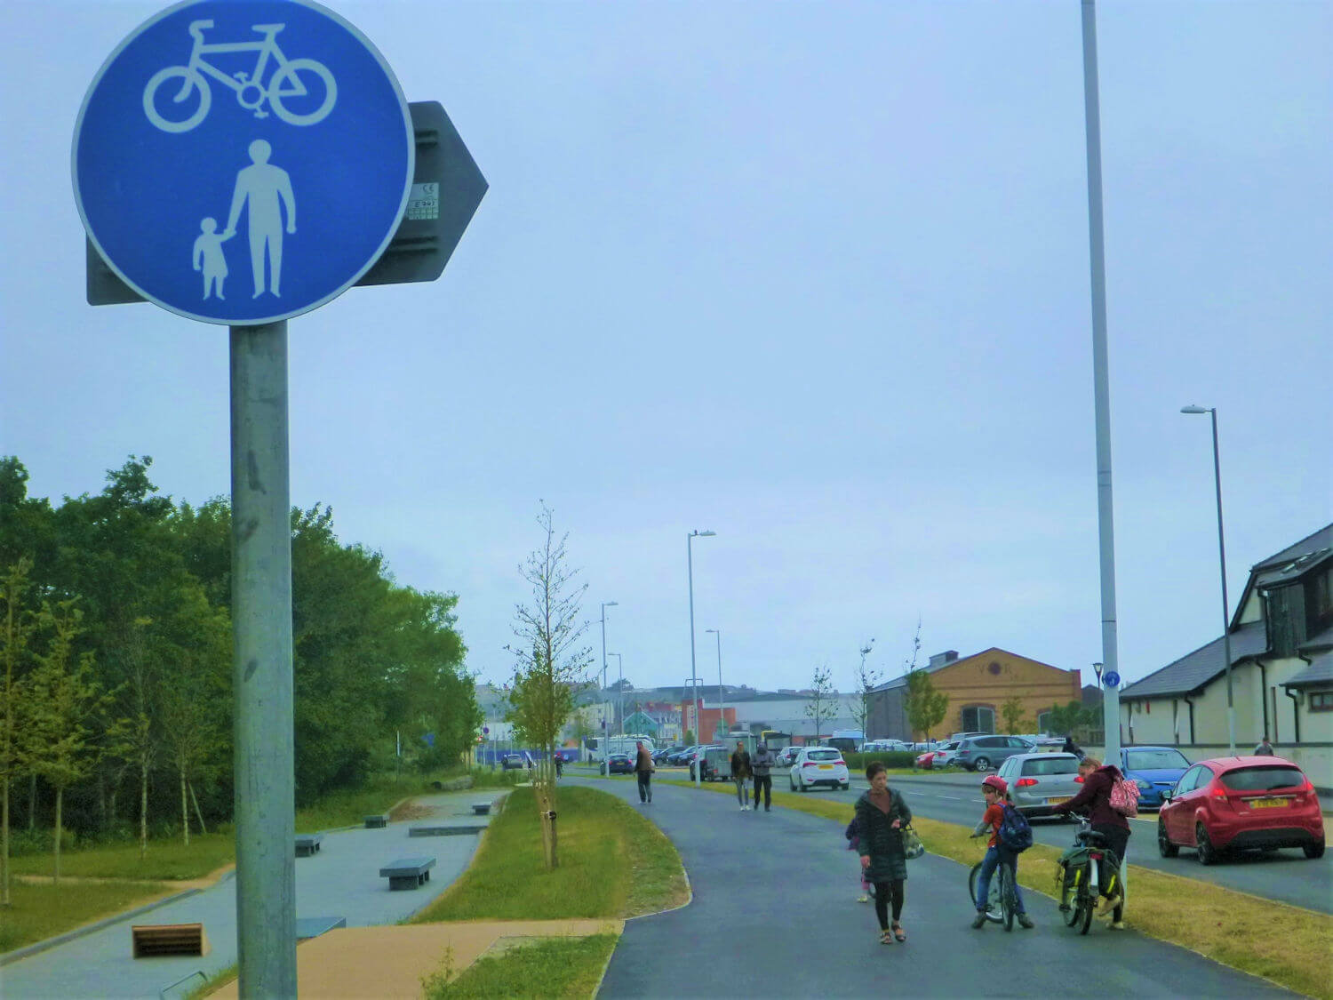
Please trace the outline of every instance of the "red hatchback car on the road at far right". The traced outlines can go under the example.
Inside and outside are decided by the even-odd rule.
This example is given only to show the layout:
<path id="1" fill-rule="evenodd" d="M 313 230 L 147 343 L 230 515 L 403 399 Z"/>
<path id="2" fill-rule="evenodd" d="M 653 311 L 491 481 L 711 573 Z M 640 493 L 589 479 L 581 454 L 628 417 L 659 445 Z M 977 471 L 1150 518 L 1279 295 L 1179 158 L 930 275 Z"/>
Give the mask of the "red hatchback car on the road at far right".
<path id="1" fill-rule="evenodd" d="M 1314 785 L 1282 757 L 1201 760 L 1176 783 L 1157 813 L 1157 849 L 1194 848 L 1200 864 L 1224 851 L 1298 847 L 1324 856 L 1324 817 Z"/>

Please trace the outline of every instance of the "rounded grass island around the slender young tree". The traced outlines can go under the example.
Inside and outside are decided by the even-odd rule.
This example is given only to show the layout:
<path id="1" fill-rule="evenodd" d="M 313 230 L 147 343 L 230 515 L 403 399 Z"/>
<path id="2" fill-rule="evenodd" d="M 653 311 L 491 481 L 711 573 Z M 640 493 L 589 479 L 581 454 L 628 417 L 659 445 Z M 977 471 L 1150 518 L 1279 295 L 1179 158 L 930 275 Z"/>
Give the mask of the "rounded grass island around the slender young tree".
<path id="1" fill-rule="evenodd" d="M 543 861 L 532 789 L 515 789 L 468 871 L 412 923 L 624 917 L 688 897 L 676 848 L 627 803 L 571 787 L 556 811 L 557 868 Z"/>

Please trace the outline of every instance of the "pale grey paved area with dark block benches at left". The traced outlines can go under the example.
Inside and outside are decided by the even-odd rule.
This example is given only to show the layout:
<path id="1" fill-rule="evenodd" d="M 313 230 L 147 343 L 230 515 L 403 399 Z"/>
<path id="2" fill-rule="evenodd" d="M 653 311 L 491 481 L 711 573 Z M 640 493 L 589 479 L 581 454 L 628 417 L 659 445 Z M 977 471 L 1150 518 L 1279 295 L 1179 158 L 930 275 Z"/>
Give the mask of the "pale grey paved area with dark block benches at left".
<path id="1" fill-rule="evenodd" d="M 425 819 L 391 823 L 383 829 L 344 829 L 324 835 L 319 853 L 296 859 L 296 916 L 340 916 L 348 928 L 395 924 L 433 900 L 472 861 L 480 833 L 408 837 L 419 824 L 481 825 L 473 801 L 492 801 L 503 789 L 483 788 L 416 796 L 419 807 L 433 809 Z M 391 892 L 380 865 L 405 855 L 433 855 L 431 881 L 419 891 Z M 203 956 L 135 960 L 131 955 L 132 924 L 203 923 L 212 951 Z M 300 956 L 300 949 L 297 949 Z M 20 1000 L 84 1000 L 97 997 L 157 997 L 176 980 L 203 972 L 212 976 L 236 964 L 236 880 L 228 875 L 217 884 L 160 905 L 147 913 L 121 919 L 92 933 L 72 937 L 53 948 L 0 967 L 0 997 Z M 199 987 L 193 976 L 168 997 Z"/>

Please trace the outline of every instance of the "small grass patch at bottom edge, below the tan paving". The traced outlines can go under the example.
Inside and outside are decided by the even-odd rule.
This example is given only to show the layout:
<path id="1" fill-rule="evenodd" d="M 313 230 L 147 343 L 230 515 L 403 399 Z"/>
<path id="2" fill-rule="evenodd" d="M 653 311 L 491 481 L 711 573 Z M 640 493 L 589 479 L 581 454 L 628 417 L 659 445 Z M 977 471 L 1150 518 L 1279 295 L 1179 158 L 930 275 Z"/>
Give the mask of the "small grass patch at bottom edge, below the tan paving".
<path id="1" fill-rule="evenodd" d="M 421 980 L 421 991 L 427 1000 L 591 997 L 617 940 L 611 933 L 548 937 L 483 956 L 457 976 L 447 959 L 439 972 Z"/>

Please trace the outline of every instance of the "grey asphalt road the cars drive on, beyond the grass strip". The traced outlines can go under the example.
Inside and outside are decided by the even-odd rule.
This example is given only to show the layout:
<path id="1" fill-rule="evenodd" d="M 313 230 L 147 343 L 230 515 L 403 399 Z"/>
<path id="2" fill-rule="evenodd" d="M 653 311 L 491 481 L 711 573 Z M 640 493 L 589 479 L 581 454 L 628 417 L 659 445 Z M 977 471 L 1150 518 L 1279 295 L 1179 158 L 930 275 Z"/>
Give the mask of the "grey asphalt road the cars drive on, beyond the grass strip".
<path id="1" fill-rule="evenodd" d="M 912 808 L 932 820 L 972 827 L 981 819 L 985 804 L 981 800 L 984 775 L 922 775 L 900 777 L 898 788 L 913 796 Z M 774 775 L 774 787 L 786 791 L 786 772 Z M 852 775 L 852 788 L 846 792 L 812 791 L 826 799 L 856 801 L 865 791 L 865 779 Z M 914 791 L 913 791 L 914 789 Z M 920 808 L 918 808 L 920 807 Z M 1177 857 L 1162 857 L 1157 852 L 1157 813 L 1142 811 L 1129 827 L 1129 863 L 1185 879 L 1209 881 L 1228 889 L 1248 892 L 1260 899 L 1288 903 L 1293 907 L 1333 913 L 1333 853 L 1309 859 L 1300 849 L 1286 848 L 1272 853 L 1246 851 L 1226 855 L 1206 868 L 1194 859 L 1190 848 L 1181 848 Z M 1050 819 L 1037 819 L 1032 824 L 1033 839 L 1064 849 L 1073 843 L 1074 825 Z"/>

